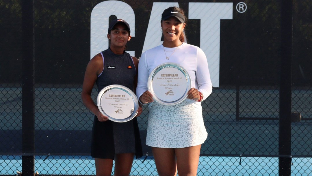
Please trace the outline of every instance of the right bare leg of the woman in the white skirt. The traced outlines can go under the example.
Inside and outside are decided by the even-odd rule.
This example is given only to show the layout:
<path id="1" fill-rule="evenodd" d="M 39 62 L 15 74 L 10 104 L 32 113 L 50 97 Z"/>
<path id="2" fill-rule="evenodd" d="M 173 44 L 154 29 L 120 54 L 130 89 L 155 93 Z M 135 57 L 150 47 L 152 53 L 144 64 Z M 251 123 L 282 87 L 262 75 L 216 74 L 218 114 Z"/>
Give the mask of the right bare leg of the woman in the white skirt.
<path id="1" fill-rule="evenodd" d="M 179 176 L 196 176 L 201 145 L 175 148 Z"/>

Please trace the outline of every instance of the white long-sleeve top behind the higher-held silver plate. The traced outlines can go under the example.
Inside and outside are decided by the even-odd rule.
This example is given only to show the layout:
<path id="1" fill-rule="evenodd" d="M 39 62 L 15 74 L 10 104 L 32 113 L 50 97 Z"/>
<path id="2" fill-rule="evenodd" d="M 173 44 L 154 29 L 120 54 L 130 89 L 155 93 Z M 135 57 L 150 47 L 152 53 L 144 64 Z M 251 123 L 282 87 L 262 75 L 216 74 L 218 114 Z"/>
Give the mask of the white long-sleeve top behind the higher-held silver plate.
<path id="1" fill-rule="evenodd" d="M 177 50 L 174 52 L 175 49 Z M 166 59 L 167 56 L 169 57 L 168 60 Z M 149 74 L 158 65 L 168 62 L 177 63 L 188 71 L 191 78 L 191 88 L 198 89 L 203 94 L 203 100 L 212 93 L 212 83 L 205 53 L 197 46 L 183 43 L 178 48 L 166 48 L 159 45 L 142 54 L 139 60 L 138 85 L 136 88 L 138 98 L 148 90 Z M 195 107 L 201 108 L 201 102 L 190 99 L 187 99 L 187 101 Z"/>

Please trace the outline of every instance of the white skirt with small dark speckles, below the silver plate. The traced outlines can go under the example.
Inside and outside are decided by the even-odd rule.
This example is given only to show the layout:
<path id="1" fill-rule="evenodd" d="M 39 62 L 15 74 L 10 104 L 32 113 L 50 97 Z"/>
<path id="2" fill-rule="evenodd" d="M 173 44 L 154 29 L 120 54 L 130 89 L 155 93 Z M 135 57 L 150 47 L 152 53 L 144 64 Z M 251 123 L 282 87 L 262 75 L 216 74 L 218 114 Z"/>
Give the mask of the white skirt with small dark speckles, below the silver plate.
<path id="1" fill-rule="evenodd" d="M 202 144 L 206 139 L 202 110 L 186 100 L 170 106 L 154 101 L 149 109 L 146 145 L 184 148 Z"/>

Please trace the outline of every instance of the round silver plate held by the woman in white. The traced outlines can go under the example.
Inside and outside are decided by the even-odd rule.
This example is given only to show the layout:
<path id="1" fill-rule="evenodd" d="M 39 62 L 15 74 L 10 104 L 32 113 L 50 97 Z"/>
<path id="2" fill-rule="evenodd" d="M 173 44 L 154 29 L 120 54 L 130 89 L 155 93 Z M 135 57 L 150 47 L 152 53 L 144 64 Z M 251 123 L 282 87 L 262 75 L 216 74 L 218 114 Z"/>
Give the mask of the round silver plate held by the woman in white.
<path id="1" fill-rule="evenodd" d="M 163 63 L 158 65 L 149 75 L 147 88 L 158 103 L 175 105 L 188 96 L 191 78 L 181 65 Z"/>

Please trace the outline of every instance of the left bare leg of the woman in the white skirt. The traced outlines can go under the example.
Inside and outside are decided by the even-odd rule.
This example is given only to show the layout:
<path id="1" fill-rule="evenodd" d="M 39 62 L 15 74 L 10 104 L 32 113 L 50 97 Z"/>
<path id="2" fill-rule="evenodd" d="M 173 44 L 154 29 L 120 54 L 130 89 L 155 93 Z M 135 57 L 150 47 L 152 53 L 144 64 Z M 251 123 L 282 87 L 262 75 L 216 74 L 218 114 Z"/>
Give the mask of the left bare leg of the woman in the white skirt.
<path id="1" fill-rule="evenodd" d="M 177 175 L 177 164 L 173 148 L 152 147 L 159 176 Z"/>

